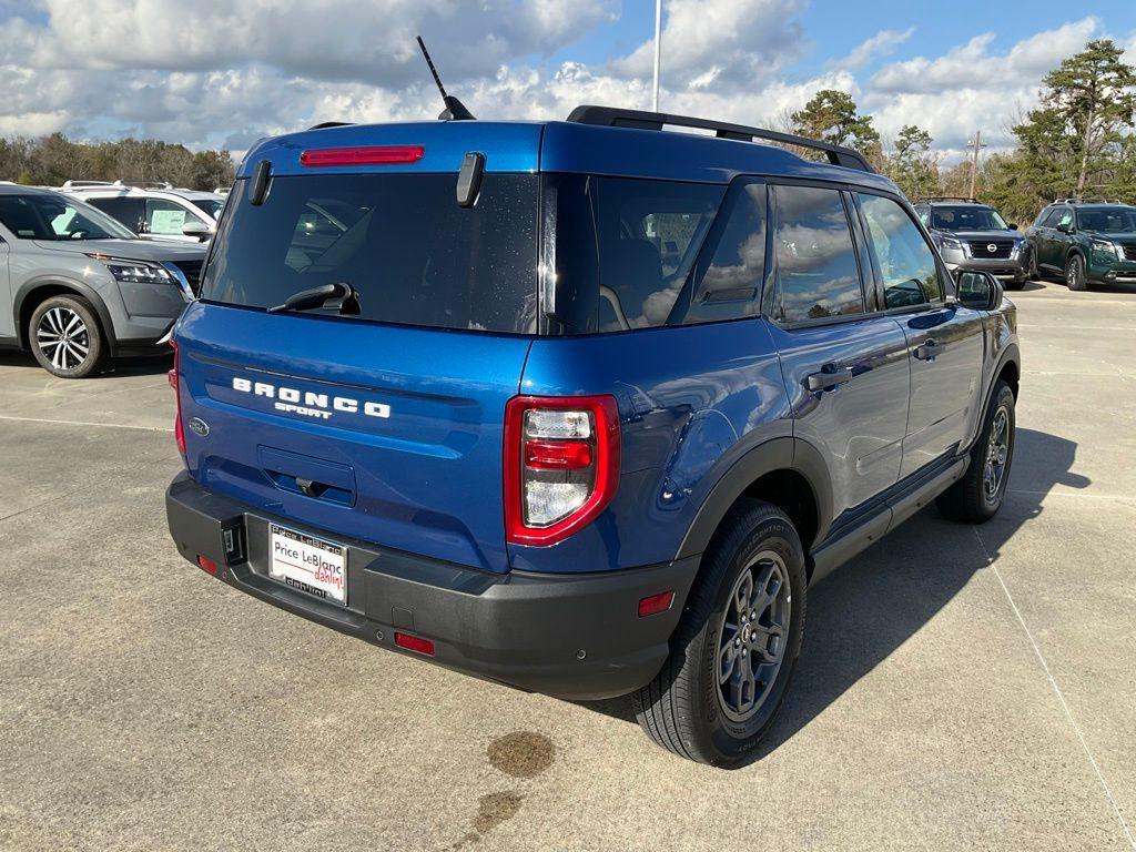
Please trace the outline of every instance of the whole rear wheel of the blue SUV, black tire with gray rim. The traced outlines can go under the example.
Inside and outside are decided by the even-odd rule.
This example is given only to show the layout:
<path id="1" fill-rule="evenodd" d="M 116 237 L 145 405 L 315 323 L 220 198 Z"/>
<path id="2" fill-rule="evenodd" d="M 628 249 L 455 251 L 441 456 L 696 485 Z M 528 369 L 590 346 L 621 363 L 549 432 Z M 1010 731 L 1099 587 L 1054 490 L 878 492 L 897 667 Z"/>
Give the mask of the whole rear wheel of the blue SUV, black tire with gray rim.
<path id="1" fill-rule="evenodd" d="M 702 557 L 670 657 L 633 695 L 648 736 L 701 763 L 745 762 L 792 680 L 805 585 L 804 551 L 788 517 L 759 501 L 732 509 Z"/>

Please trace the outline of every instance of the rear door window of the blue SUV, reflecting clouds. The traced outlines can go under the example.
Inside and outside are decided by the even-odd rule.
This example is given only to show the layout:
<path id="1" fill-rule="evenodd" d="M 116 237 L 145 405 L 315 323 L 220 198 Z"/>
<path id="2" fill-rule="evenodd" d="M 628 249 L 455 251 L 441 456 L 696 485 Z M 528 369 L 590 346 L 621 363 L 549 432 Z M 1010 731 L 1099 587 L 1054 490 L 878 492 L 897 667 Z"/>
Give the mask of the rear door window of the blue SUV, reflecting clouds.
<path id="1" fill-rule="evenodd" d="M 774 192 L 777 317 L 802 323 L 862 314 L 860 268 L 840 192 L 815 186 Z"/>

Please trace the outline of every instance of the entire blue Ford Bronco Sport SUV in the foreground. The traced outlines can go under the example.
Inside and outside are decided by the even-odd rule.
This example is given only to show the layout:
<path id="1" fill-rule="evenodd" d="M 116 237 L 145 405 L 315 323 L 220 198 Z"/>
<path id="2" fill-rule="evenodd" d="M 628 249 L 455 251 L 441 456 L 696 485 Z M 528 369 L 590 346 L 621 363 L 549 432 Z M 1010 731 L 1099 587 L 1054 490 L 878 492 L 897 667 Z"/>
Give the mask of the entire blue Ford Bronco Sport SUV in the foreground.
<path id="1" fill-rule="evenodd" d="M 289 612 L 629 693 L 736 766 L 810 584 L 930 502 L 999 510 L 1016 323 L 847 149 L 600 107 L 284 135 L 175 329 L 169 528 Z"/>

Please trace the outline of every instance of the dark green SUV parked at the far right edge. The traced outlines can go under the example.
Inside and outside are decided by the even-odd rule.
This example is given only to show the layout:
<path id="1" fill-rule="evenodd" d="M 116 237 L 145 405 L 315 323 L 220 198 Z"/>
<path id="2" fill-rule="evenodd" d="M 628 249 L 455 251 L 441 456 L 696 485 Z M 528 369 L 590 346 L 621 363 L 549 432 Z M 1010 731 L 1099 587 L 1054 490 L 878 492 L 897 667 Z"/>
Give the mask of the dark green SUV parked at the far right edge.
<path id="1" fill-rule="evenodd" d="M 1136 207 L 1119 201 L 1054 201 L 1026 231 L 1034 274 L 1061 275 L 1070 290 L 1136 283 Z"/>

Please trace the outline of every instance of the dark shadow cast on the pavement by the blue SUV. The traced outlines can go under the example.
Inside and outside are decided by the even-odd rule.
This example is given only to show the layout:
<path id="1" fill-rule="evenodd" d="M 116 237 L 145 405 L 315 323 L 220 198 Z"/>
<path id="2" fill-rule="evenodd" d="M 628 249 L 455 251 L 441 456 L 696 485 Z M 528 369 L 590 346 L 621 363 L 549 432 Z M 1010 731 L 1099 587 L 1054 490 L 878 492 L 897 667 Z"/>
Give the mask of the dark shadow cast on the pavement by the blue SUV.
<path id="1" fill-rule="evenodd" d="M 810 587 L 793 684 L 754 760 L 788 741 L 946 607 L 1022 524 L 1041 515 L 1055 485 L 1088 487 L 1089 479 L 1071 470 L 1076 451 L 1072 441 L 1019 428 L 1010 493 L 982 527 L 980 541 L 971 525 L 945 520 L 932 507 Z M 629 699 L 586 707 L 635 721 Z"/>

